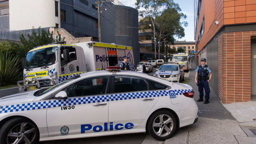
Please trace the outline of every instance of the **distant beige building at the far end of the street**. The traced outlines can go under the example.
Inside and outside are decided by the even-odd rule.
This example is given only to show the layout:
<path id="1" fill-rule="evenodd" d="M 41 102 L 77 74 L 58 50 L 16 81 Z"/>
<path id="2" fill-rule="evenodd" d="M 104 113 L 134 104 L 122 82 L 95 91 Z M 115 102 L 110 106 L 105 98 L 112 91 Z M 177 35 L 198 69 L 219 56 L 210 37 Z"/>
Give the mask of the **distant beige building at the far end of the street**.
<path id="1" fill-rule="evenodd" d="M 190 41 L 174 41 L 174 45 L 171 45 L 171 48 L 176 48 L 176 50 L 178 50 L 179 48 L 183 48 L 186 52 L 186 54 L 188 54 L 191 51 L 195 51 L 196 50 L 196 46 L 195 46 L 195 42 L 190 42 Z"/>

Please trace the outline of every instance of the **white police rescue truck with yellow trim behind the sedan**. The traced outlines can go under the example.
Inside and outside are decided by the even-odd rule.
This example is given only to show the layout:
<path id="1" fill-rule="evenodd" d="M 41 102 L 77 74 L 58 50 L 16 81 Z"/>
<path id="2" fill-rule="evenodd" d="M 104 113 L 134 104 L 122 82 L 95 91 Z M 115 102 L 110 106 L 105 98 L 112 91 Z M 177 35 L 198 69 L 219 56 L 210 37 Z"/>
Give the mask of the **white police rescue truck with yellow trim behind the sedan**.
<path id="1" fill-rule="evenodd" d="M 115 66 L 125 55 L 130 57 L 128 63 L 134 70 L 133 48 L 128 46 L 91 41 L 36 47 L 28 52 L 23 63 L 24 78 L 17 82 L 19 92 L 56 85 L 80 73 Z"/>

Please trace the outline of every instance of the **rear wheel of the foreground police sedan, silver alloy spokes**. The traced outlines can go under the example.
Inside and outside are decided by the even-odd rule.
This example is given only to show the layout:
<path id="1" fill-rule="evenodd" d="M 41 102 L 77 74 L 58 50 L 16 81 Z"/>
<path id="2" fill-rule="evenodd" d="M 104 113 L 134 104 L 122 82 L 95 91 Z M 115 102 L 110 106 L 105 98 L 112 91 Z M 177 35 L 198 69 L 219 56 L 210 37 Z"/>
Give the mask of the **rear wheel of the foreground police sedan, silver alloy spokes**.
<path id="1" fill-rule="evenodd" d="M 157 140 L 171 138 L 177 128 L 177 121 L 173 113 L 168 110 L 157 111 L 150 118 L 147 125 L 149 134 Z"/>

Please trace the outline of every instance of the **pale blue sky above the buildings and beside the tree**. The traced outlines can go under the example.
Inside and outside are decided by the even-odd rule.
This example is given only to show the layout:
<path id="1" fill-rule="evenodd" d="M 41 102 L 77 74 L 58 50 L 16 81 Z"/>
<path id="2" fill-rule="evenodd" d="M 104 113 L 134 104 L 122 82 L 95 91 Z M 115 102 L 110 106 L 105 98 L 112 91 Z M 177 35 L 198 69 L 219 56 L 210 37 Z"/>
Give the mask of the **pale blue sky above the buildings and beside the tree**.
<path id="1" fill-rule="evenodd" d="M 133 7 L 135 8 L 135 2 L 137 0 L 119 0 L 120 2 L 123 3 L 125 6 Z M 181 9 L 181 12 L 183 14 L 187 15 L 187 21 L 188 26 L 183 27 L 185 29 L 185 37 L 178 39 L 175 38 L 176 40 L 186 40 L 186 41 L 195 41 L 194 40 L 194 0 L 173 0 L 175 3 L 178 3 Z"/>

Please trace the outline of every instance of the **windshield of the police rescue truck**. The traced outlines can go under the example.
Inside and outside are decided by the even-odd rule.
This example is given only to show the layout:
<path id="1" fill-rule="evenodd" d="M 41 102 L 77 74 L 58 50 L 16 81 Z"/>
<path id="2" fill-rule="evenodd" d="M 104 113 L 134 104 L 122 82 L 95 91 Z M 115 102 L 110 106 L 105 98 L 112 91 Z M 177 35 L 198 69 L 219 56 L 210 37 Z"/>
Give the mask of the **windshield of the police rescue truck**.
<path id="1" fill-rule="evenodd" d="M 28 52 L 25 68 L 37 68 L 49 66 L 57 62 L 58 47 L 46 47 Z"/>

